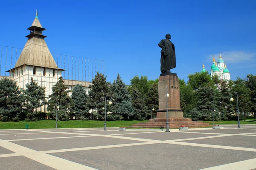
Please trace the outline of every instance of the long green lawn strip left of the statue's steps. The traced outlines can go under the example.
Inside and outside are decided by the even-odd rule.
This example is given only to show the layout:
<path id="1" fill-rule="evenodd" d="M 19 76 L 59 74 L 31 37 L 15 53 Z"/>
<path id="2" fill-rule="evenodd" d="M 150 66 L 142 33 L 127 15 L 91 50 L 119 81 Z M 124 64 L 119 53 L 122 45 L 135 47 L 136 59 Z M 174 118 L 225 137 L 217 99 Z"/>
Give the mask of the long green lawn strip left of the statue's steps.
<path id="1" fill-rule="evenodd" d="M 138 122 L 144 121 L 111 121 L 107 122 L 107 127 L 120 127 L 120 126 L 131 126 Z M 55 120 L 40 120 L 36 122 L 0 122 L 0 129 L 25 129 L 26 123 L 29 124 L 29 129 L 44 129 L 44 128 L 55 128 Z M 86 127 L 104 127 L 104 121 L 95 120 L 69 120 L 69 121 L 58 121 L 58 128 L 86 128 Z"/>

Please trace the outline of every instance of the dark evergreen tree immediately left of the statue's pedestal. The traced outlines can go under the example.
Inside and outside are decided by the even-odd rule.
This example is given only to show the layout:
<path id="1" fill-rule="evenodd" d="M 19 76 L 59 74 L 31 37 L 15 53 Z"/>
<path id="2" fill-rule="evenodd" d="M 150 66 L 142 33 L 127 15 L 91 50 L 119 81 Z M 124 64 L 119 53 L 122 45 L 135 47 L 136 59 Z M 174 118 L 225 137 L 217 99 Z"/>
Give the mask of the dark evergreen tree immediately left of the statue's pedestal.
<path id="1" fill-rule="evenodd" d="M 151 119 L 151 112 L 152 112 L 152 118 L 155 118 L 157 116 L 157 110 L 159 109 L 158 82 L 153 83 L 150 86 L 150 88 L 148 89 L 146 101 L 147 101 L 147 105 L 148 105 L 147 119 Z M 151 111 L 151 108 L 154 108 L 154 111 Z"/>

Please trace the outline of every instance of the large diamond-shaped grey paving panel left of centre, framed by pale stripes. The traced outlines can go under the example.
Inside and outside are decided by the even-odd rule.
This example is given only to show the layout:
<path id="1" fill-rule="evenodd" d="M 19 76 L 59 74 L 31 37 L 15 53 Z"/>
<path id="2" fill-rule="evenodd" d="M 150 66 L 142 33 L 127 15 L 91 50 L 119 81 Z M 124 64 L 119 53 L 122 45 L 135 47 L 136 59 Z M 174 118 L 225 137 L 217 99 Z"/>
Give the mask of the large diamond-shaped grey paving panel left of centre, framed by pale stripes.
<path id="1" fill-rule="evenodd" d="M 136 140 L 115 139 L 102 136 L 84 136 L 80 138 L 42 139 L 12 142 L 37 151 L 140 143 L 140 141 Z"/>

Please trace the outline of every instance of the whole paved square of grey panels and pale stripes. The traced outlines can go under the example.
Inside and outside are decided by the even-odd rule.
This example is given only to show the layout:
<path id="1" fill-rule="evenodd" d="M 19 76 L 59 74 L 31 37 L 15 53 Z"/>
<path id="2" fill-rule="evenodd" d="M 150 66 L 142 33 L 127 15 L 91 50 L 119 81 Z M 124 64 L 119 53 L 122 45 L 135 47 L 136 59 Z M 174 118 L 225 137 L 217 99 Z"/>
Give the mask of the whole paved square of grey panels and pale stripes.
<path id="1" fill-rule="evenodd" d="M 256 169 L 256 125 L 221 126 L 0 130 L 0 170 Z"/>

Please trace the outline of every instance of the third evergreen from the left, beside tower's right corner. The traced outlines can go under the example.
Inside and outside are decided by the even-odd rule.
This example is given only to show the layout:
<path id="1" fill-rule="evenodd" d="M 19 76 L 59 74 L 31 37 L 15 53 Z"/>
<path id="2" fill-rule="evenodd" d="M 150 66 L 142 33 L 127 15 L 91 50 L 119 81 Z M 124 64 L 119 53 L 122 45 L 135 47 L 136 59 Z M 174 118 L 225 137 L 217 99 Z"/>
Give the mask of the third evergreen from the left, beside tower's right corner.
<path id="1" fill-rule="evenodd" d="M 72 99 L 70 96 L 68 96 L 68 93 L 71 91 L 67 89 L 68 87 L 64 85 L 64 80 L 62 77 L 60 77 L 59 81 L 52 86 L 52 94 L 49 96 L 50 99 L 47 103 L 47 111 L 50 111 L 50 117 L 56 117 L 56 108 L 58 102 L 58 106 L 60 107 L 58 111 L 58 119 L 65 121 L 69 120 L 70 105 L 72 104 Z"/>

